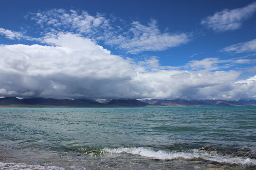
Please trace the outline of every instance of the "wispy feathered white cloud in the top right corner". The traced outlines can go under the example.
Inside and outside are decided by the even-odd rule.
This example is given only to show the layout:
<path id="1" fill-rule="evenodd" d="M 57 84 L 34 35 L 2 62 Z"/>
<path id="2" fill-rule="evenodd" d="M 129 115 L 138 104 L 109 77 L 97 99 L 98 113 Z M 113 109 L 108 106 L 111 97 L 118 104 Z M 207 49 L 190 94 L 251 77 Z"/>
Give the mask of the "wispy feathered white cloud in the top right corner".
<path id="1" fill-rule="evenodd" d="M 256 2 L 243 8 L 223 9 L 213 16 L 203 18 L 201 24 L 217 32 L 237 30 L 242 26 L 242 22 L 251 17 L 255 11 Z"/>

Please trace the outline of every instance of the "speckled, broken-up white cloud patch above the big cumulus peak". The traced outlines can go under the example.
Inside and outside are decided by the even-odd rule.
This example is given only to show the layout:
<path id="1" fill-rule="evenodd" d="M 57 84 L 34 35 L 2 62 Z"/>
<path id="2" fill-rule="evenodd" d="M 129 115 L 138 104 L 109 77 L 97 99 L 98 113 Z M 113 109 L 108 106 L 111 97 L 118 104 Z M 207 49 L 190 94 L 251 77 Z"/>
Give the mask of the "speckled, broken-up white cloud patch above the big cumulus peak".
<path id="1" fill-rule="evenodd" d="M 84 34 L 87 37 L 96 39 L 97 36 L 102 36 L 104 31 L 111 29 L 109 19 L 103 15 L 89 15 L 86 11 L 66 11 L 64 9 L 51 9 L 47 11 L 33 13 L 32 20 L 35 20 L 45 33 L 51 30 L 57 32 L 65 32 L 66 29 L 74 34 Z"/>

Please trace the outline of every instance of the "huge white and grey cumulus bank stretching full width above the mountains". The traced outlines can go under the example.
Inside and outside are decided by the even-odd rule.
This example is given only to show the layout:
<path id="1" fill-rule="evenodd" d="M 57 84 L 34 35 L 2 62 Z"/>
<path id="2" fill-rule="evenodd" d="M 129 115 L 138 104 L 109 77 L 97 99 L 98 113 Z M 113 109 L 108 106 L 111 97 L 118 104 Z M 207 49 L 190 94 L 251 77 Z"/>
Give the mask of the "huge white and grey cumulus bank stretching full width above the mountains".
<path id="1" fill-rule="evenodd" d="M 163 69 L 157 57 L 124 59 L 80 34 L 41 41 L 46 45 L 0 46 L 0 96 L 255 99 L 256 82 L 236 83 L 241 71 L 210 69 L 231 61 L 194 60 L 191 68 Z"/>

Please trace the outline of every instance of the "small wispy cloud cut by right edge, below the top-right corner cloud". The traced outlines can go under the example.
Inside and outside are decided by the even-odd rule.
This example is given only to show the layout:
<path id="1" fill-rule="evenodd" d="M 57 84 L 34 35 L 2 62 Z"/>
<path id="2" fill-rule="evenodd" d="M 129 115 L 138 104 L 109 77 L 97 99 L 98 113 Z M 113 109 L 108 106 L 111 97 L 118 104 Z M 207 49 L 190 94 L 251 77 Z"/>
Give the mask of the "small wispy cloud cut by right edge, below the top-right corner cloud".
<path id="1" fill-rule="evenodd" d="M 248 42 L 240 42 L 234 45 L 230 45 L 224 47 L 220 50 L 221 52 L 234 52 L 234 53 L 242 53 L 242 52 L 256 52 L 256 39 L 248 41 Z"/>

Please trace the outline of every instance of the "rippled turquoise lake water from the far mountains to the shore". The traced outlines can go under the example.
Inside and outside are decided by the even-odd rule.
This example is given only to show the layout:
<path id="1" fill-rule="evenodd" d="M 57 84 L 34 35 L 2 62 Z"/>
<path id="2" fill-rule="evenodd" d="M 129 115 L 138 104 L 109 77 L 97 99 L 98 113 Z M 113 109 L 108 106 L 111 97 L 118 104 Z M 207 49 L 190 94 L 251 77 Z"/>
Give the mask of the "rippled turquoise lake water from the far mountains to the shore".
<path id="1" fill-rule="evenodd" d="M 253 170 L 256 107 L 0 108 L 0 146 L 2 166 L 33 165 L 8 146 L 65 170 Z"/>

